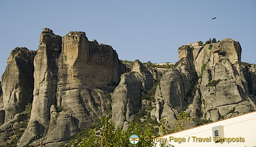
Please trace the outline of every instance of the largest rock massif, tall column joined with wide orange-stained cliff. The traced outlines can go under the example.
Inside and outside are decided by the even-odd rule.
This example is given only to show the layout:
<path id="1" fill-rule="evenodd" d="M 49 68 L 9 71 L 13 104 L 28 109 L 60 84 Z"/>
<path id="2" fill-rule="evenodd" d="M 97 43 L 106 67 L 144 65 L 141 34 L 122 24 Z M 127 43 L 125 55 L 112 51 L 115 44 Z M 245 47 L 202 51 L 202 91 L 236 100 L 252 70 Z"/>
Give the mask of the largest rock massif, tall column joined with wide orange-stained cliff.
<path id="1" fill-rule="evenodd" d="M 31 119 L 19 144 L 43 134 L 48 146 L 61 146 L 109 111 L 107 95 L 122 66 L 111 46 L 88 41 L 84 32 L 61 38 L 45 28 L 39 43 Z"/>

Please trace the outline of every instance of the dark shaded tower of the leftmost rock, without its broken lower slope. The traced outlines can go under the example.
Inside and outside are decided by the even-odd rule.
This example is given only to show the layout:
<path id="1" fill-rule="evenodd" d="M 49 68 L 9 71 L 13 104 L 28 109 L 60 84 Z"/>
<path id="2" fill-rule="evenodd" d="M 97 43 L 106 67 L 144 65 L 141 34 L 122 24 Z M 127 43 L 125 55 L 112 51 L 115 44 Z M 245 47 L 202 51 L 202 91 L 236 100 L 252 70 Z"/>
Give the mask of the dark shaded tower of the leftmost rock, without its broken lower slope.
<path id="1" fill-rule="evenodd" d="M 23 112 L 25 105 L 33 101 L 35 55 L 36 51 L 25 47 L 16 47 L 10 53 L 2 76 L 1 100 L 6 115 L 5 122 L 13 119 L 16 113 Z"/>

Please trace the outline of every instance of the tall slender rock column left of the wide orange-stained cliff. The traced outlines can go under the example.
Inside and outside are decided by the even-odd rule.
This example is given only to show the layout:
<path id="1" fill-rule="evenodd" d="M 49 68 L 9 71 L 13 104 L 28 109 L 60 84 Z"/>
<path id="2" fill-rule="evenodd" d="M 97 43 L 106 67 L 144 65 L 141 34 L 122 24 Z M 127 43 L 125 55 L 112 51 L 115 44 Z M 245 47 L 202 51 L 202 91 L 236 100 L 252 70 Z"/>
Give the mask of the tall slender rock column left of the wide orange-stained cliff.
<path id="1" fill-rule="evenodd" d="M 44 134 L 50 121 L 50 107 L 56 104 L 57 59 L 61 52 L 61 37 L 44 28 L 40 35 L 39 47 L 34 59 L 34 100 L 27 130 L 20 139 L 20 145 Z"/>

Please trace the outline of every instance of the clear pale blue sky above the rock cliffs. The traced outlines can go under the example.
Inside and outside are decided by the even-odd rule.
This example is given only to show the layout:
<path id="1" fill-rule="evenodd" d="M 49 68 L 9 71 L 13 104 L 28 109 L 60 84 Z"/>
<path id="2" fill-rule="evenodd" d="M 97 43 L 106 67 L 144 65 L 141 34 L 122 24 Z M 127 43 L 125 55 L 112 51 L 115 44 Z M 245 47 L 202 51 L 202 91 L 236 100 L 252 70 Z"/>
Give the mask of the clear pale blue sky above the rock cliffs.
<path id="1" fill-rule="evenodd" d="M 217 17 L 211 20 L 211 17 Z M 15 47 L 37 50 L 42 28 L 86 32 L 119 59 L 174 63 L 178 47 L 231 38 L 256 63 L 256 1 L 0 1 L 0 75 Z"/>

